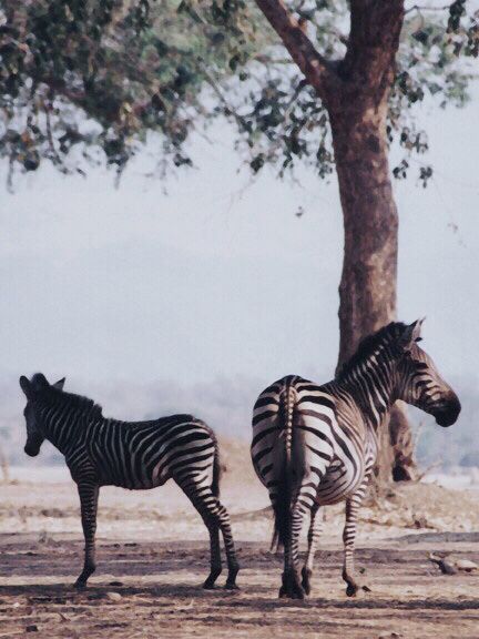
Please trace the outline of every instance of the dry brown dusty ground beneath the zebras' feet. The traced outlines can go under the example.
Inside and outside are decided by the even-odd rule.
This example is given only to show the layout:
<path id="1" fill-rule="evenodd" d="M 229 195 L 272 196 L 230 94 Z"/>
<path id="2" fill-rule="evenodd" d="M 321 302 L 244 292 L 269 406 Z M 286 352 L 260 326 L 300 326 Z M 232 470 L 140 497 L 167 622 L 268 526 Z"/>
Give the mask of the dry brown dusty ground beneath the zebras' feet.
<path id="1" fill-rule="evenodd" d="M 479 491 L 406 485 L 364 508 L 357 565 L 371 592 L 354 599 L 340 578 L 342 508 L 328 509 L 313 594 L 291 602 L 277 599 L 282 560 L 268 551 L 267 496 L 246 446 L 224 449 L 222 498 L 242 564 L 240 591 L 200 588 L 207 534 L 169 484 L 143 493 L 102 489 L 98 569 L 77 592 L 82 536 L 74 485 L 65 475 L 39 481 L 32 468 L 28 480 L 0 486 L 0 637 L 479 638 L 479 575 L 442 575 L 428 559 L 447 551 L 479 564 Z"/>

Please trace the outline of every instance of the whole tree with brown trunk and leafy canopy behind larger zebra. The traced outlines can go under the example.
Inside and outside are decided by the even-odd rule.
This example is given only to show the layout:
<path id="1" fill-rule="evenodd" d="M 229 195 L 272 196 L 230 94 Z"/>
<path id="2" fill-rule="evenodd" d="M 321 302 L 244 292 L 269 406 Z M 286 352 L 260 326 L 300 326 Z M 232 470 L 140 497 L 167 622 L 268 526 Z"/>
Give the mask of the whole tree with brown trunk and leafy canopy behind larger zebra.
<path id="1" fill-rule="evenodd" d="M 467 100 L 472 73 L 458 60 L 478 55 L 479 27 L 465 0 L 407 14 L 404 0 L 6 0 L 1 10 L 0 153 L 10 176 L 43 159 L 83 171 L 77 149 L 121 172 L 151 131 L 163 168 L 167 158 L 188 165 L 188 133 L 225 116 L 255 173 L 273 164 L 284 176 L 302 161 L 326 178 L 336 168 L 339 365 L 395 318 L 388 148 L 397 139 L 404 149 L 393 174 L 405 178 L 409 156 L 427 150 L 410 106 L 426 95 Z M 431 174 L 420 166 L 424 184 Z M 411 438 L 399 410 L 388 438 L 394 455 L 386 445 L 381 468 L 408 478 Z"/>

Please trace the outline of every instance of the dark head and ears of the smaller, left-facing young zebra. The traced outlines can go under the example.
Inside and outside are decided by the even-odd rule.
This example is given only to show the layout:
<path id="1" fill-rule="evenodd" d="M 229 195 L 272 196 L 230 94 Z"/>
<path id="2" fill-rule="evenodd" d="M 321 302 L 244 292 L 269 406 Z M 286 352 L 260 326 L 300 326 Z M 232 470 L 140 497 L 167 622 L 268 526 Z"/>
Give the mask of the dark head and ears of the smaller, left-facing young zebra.
<path id="1" fill-rule="evenodd" d="M 63 379 L 55 382 L 55 384 L 50 385 L 47 377 L 41 373 L 37 373 L 31 379 L 28 379 L 24 375 L 20 377 L 20 387 L 27 397 L 27 406 L 23 410 L 27 422 L 27 443 L 24 452 L 30 457 L 35 457 L 40 453 L 40 447 L 44 439 L 39 402 L 41 400 L 44 390 L 51 386 L 62 390 L 63 384 L 64 377 Z"/>

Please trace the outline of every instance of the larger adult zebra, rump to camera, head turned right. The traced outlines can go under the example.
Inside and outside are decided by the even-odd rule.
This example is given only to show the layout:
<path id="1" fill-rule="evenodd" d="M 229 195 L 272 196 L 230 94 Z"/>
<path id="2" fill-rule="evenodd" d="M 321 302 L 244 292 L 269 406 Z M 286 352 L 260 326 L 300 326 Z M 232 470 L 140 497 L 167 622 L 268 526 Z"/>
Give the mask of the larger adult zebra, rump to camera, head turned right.
<path id="1" fill-rule="evenodd" d="M 284 546 L 279 597 L 310 592 L 322 506 L 346 501 L 343 579 L 347 596 L 360 585 L 354 568 L 358 509 L 378 454 L 378 433 L 396 399 L 452 425 L 461 406 L 422 351 L 421 321 L 393 322 L 366 337 L 336 377 L 318 386 L 296 375 L 261 393 L 253 410 L 251 454 L 275 514 L 275 535 Z M 308 550 L 298 570 L 303 520 L 310 514 Z"/>

